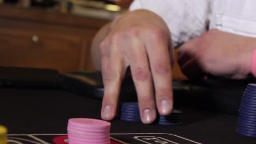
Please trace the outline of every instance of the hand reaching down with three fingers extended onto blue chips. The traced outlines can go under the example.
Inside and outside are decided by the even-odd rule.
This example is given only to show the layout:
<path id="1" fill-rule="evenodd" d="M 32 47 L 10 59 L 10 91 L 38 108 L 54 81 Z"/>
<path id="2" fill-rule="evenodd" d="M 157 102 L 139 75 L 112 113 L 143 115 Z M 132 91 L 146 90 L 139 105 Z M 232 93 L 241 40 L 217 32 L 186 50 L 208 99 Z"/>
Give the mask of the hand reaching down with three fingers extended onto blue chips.
<path id="1" fill-rule="evenodd" d="M 171 113 L 171 64 L 174 61 L 171 44 L 170 31 L 165 22 L 147 10 L 128 12 L 110 24 L 100 44 L 104 83 L 103 119 L 110 120 L 115 116 L 127 67 L 131 68 L 142 122 L 154 121 L 156 106 L 162 115 Z"/>

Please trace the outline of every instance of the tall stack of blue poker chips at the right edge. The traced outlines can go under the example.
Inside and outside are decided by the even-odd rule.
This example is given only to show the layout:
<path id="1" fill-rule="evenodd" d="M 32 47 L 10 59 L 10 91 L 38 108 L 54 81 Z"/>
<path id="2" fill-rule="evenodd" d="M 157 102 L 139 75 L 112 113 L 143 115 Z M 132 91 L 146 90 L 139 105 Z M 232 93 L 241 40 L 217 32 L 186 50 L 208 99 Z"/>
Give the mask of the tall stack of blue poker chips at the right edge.
<path id="1" fill-rule="evenodd" d="M 256 84 L 249 83 L 238 110 L 237 134 L 256 137 Z"/>

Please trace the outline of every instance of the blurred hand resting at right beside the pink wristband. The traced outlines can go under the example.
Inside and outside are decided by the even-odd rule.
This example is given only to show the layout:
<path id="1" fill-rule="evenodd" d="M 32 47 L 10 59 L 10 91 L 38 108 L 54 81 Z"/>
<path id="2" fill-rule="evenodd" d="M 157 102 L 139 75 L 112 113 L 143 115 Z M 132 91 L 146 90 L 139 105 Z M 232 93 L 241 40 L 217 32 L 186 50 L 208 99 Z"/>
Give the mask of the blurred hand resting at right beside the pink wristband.
<path id="1" fill-rule="evenodd" d="M 256 39 L 211 29 L 179 49 L 178 62 L 189 79 L 205 74 L 244 79 L 251 69 Z"/>

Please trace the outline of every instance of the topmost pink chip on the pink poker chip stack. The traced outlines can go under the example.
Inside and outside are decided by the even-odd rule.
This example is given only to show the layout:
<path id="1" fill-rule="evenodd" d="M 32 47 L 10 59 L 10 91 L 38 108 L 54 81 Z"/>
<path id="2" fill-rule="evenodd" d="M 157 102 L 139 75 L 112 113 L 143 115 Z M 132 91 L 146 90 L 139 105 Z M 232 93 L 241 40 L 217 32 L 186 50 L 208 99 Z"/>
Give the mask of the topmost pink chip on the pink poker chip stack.
<path id="1" fill-rule="evenodd" d="M 79 128 L 89 128 L 89 129 L 106 129 L 110 128 L 110 123 L 100 119 L 92 118 L 71 118 L 68 119 L 68 124 Z"/>

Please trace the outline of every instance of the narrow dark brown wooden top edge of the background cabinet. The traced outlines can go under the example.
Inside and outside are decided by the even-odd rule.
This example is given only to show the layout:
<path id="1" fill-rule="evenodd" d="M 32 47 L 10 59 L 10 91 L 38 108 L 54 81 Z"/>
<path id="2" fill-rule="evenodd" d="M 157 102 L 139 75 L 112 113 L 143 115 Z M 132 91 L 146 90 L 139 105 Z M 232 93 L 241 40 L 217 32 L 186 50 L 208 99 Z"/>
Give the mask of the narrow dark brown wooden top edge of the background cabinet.
<path id="1" fill-rule="evenodd" d="M 20 19 L 22 21 L 46 22 L 52 25 L 67 25 L 72 27 L 95 28 L 102 27 L 106 20 L 94 19 L 91 17 L 74 16 L 61 14 L 45 9 L 20 8 L 13 5 L 0 5 L 0 17 L 5 19 Z"/>

